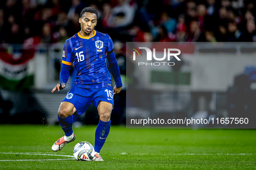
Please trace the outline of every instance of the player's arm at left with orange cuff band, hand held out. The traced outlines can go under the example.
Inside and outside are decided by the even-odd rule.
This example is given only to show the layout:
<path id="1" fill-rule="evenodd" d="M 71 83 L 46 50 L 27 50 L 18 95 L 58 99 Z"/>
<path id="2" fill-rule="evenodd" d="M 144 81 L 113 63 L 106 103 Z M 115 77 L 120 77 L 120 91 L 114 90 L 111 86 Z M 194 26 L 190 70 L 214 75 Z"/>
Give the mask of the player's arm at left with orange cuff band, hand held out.
<path id="1" fill-rule="evenodd" d="M 62 54 L 62 69 L 60 73 L 60 83 L 55 86 L 55 88 L 52 89 L 52 93 L 55 91 L 62 90 L 66 87 L 66 84 L 68 82 L 69 77 L 69 70 L 71 68 L 72 63 L 72 57 L 71 57 L 72 51 L 69 44 L 69 41 L 67 40 L 65 42 L 64 48 L 63 48 L 63 54 Z"/>

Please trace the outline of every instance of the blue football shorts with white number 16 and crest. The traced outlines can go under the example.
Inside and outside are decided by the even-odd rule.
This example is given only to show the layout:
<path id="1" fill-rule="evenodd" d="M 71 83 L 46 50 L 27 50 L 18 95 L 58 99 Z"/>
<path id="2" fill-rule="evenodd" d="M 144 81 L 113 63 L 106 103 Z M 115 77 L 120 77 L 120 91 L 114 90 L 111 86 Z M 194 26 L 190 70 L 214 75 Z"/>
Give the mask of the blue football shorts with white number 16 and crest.
<path id="1" fill-rule="evenodd" d="M 93 103 L 97 109 L 100 101 L 106 101 L 113 106 L 113 90 L 112 88 L 79 88 L 73 87 L 68 91 L 62 101 L 74 104 L 78 115 L 83 114 Z"/>

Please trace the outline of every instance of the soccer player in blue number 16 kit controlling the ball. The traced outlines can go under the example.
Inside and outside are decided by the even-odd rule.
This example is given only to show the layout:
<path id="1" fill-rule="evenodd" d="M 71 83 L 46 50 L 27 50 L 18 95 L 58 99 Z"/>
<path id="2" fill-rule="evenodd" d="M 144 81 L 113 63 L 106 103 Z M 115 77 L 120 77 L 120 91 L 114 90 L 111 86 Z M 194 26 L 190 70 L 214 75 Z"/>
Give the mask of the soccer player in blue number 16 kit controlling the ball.
<path id="1" fill-rule="evenodd" d="M 109 35 L 94 30 L 97 24 L 97 10 L 86 7 L 79 18 L 81 31 L 69 38 L 64 45 L 60 83 L 52 93 L 65 88 L 72 62 L 77 70 L 72 89 L 58 108 L 58 120 L 65 136 L 52 145 L 52 151 L 60 151 L 75 140 L 72 130 L 73 113 L 81 115 L 94 104 L 100 116 L 95 132 L 95 156 L 93 161 L 104 161 L 100 149 L 110 131 L 110 115 L 113 109 L 113 94 L 121 91 L 120 70 L 113 52 L 113 41 Z M 106 58 L 116 86 L 112 90 L 112 80 L 107 69 Z"/>

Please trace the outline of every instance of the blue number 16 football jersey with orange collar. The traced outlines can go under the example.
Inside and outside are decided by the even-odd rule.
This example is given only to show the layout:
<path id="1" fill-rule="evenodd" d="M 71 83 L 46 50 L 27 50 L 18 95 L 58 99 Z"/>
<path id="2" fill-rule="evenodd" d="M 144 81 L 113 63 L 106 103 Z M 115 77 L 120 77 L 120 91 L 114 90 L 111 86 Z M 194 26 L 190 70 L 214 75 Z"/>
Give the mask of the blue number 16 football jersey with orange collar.
<path id="1" fill-rule="evenodd" d="M 112 87 L 110 72 L 107 69 L 107 52 L 113 50 L 109 35 L 94 30 L 91 38 L 78 32 L 64 45 L 62 63 L 74 66 L 77 70 L 74 86 L 81 88 Z"/>

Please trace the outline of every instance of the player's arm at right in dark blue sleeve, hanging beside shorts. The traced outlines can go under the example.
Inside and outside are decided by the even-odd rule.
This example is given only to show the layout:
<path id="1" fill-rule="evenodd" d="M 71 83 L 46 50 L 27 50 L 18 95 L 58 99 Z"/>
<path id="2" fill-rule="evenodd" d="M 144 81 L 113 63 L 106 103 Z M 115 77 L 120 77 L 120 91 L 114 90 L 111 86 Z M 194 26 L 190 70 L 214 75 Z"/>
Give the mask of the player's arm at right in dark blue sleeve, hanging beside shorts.
<path id="1" fill-rule="evenodd" d="M 111 74 L 115 80 L 115 83 L 116 83 L 116 86 L 113 88 L 113 94 L 117 94 L 117 93 L 120 93 L 123 84 L 121 81 L 120 70 L 118 67 L 117 59 L 116 59 L 115 53 L 113 51 L 112 39 L 109 40 L 108 50 L 109 51 L 107 51 L 107 61 L 108 61 L 108 65 L 110 68 L 110 72 L 111 72 Z"/>

